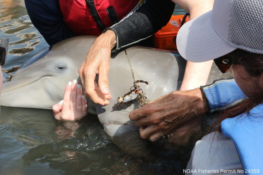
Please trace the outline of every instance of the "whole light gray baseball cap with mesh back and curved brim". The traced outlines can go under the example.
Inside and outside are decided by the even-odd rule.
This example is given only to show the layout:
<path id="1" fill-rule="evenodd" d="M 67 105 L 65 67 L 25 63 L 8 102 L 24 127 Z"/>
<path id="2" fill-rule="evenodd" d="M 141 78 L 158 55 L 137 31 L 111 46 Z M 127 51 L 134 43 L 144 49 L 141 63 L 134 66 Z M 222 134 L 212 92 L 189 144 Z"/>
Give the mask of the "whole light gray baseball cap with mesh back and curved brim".
<path id="1" fill-rule="evenodd" d="M 237 48 L 263 54 L 263 1 L 215 0 L 213 10 L 181 27 L 176 45 L 192 62 L 213 60 Z"/>

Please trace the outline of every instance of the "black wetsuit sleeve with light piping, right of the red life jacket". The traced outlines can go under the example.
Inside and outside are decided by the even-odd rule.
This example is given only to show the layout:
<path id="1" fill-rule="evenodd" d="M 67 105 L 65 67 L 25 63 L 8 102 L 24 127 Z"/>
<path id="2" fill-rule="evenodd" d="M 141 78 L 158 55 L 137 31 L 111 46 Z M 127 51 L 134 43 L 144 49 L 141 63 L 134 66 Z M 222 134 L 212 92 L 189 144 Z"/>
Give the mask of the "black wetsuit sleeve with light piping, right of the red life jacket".
<path id="1" fill-rule="evenodd" d="M 165 26 L 173 14 L 175 4 L 171 0 L 146 0 L 145 3 L 119 23 L 104 30 L 116 34 L 116 52 L 146 39 Z"/>

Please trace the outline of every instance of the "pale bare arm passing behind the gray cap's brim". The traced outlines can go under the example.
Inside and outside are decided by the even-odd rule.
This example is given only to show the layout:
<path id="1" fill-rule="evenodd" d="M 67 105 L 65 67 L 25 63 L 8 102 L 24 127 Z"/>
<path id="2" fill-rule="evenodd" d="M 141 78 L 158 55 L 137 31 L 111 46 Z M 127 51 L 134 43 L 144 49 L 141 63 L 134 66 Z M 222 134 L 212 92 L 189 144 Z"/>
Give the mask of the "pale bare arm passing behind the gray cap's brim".
<path id="1" fill-rule="evenodd" d="M 190 13 L 190 20 L 213 9 L 214 0 L 172 0 Z M 180 91 L 194 89 L 206 84 L 213 60 L 194 63 L 187 61 Z"/>

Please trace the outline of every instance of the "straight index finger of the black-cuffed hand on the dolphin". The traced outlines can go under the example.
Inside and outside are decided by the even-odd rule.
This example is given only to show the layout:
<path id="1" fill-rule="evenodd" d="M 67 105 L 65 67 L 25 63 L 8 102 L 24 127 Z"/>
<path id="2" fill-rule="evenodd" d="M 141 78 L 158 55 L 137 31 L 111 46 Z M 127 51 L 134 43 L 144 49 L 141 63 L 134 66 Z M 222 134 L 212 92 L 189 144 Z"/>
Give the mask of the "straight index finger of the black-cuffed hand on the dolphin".
<path id="1" fill-rule="evenodd" d="M 109 55 L 105 55 L 107 57 L 110 57 Z M 110 93 L 109 91 L 109 80 L 108 80 L 108 72 L 109 72 L 109 62 L 105 61 L 103 63 L 101 63 L 98 71 L 99 71 L 99 80 L 98 80 L 98 84 L 99 84 L 99 88 L 100 88 L 100 92 L 103 95 L 108 95 Z"/>

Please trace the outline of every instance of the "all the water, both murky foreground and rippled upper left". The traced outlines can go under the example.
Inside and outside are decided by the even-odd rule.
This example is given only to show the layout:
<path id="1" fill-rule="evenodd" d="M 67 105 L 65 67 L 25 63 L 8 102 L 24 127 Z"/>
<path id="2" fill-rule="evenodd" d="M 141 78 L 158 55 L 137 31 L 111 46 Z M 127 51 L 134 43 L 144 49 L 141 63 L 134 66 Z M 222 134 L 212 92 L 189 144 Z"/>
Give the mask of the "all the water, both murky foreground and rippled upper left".
<path id="1" fill-rule="evenodd" d="M 185 12 L 177 6 L 177 13 Z M 49 47 L 19 0 L 0 0 L 0 37 L 9 38 L 4 82 Z M 0 174 L 182 174 L 201 137 L 185 135 L 191 140 L 188 146 L 165 140 L 150 143 L 137 132 L 112 140 L 97 116 L 62 122 L 51 110 L 1 107 Z"/>

